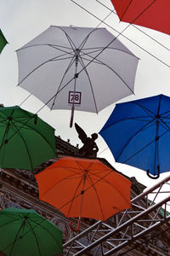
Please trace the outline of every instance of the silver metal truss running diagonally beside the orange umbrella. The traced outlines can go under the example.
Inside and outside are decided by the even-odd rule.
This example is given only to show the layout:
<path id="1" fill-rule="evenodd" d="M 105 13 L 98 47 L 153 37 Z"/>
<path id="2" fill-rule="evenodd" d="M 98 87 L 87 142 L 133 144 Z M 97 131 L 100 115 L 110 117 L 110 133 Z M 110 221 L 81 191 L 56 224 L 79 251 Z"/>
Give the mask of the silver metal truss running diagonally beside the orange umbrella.
<path id="1" fill-rule="evenodd" d="M 169 182 L 170 176 L 133 198 L 131 209 L 116 214 L 107 223 L 96 221 L 65 242 L 65 255 L 128 255 L 141 244 L 149 247 L 156 236 L 170 230 Z"/>

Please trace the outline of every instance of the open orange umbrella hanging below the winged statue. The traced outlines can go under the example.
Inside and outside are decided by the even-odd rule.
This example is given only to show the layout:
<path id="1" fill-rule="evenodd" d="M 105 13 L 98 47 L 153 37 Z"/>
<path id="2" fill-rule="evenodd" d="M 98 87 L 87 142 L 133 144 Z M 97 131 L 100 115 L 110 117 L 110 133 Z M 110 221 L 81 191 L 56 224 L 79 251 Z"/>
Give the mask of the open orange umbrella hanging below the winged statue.
<path id="1" fill-rule="evenodd" d="M 65 157 L 35 177 L 40 200 L 67 218 L 106 220 L 131 207 L 131 182 L 96 159 Z"/>

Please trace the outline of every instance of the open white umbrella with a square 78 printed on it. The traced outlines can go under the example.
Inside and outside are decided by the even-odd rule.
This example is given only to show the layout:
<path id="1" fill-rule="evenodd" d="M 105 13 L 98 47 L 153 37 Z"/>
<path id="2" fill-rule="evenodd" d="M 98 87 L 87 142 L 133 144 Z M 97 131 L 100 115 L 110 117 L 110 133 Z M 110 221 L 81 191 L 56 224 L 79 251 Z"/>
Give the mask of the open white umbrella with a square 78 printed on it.
<path id="1" fill-rule="evenodd" d="M 50 26 L 17 50 L 19 85 L 51 109 L 98 113 L 133 94 L 139 59 L 105 28 Z"/>

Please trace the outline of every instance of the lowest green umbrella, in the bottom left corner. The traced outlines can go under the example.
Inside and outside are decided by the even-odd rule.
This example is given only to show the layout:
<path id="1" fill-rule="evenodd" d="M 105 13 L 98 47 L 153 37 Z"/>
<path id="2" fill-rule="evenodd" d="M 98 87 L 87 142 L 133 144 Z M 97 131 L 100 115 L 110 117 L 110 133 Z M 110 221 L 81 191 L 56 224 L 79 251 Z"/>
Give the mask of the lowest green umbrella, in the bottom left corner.
<path id="1" fill-rule="evenodd" d="M 62 231 L 34 210 L 9 207 L 0 212 L 0 250 L 8 256 L 62 253 Z"/>

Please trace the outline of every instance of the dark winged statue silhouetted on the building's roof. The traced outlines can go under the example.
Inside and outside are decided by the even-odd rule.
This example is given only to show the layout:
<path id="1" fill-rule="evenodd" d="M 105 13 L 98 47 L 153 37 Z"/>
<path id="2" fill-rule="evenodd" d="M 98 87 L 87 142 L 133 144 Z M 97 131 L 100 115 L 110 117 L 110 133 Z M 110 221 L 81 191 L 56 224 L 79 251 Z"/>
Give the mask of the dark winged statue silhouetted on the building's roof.
<path id="1" fill-rule="evenodd" d="M 78 133 L 78 137 L 84 144 L 82 148 L 79 149 L 79 154 L 87 157 L 96 157 L 97 152 L 99 151 L 99 148 L 94 141 L 98 138 L 97 133 L 93 133 L 91 137 L 88 137 L 85 131 L 82 130 L 82 128 L 75 123 L 75 128 Z"/>

